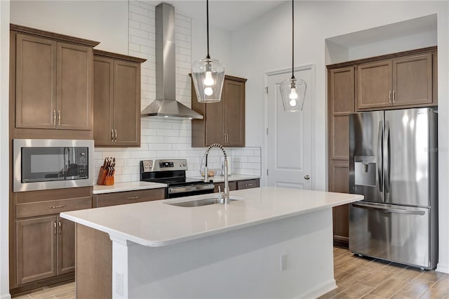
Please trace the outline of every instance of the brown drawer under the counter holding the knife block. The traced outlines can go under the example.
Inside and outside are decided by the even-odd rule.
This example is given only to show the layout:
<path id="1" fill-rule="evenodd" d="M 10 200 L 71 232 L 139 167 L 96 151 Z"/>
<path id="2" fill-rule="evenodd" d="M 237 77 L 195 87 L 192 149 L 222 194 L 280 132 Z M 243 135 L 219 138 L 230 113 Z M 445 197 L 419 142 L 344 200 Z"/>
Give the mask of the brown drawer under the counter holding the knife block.
<path id="1" fill-rule="evenodd" d="M 100 194 L 94 197 L 93 206 L 116 206 L 119 204 L 133 204 L 135 202 L 165 199 L 165 188 L 147 189 L 138 191 L 114 192 Z"/>

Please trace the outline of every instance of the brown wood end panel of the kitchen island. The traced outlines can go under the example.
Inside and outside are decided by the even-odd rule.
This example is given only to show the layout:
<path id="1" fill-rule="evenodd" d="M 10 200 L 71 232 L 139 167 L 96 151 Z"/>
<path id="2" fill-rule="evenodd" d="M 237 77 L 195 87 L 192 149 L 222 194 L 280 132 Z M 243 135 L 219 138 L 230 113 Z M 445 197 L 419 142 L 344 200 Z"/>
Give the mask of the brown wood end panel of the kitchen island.
<path id="1" fill-rule="evenodd" d="M 109 234 L 76 223 L 76 298 L 112 298 Z"/>

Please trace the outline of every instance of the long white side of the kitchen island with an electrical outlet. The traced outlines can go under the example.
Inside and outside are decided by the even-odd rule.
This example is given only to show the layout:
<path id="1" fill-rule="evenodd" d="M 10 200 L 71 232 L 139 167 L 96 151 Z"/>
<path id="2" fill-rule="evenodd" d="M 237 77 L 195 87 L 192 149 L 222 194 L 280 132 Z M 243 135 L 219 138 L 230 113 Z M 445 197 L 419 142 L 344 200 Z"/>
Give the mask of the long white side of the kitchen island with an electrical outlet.
<path id="1" fill-rule="evenodd" d="M 170 246 L 132 244 L 113 264 L 127 288 L 113 298 L 315 298 L 337 287 L 332 210 Z"/>

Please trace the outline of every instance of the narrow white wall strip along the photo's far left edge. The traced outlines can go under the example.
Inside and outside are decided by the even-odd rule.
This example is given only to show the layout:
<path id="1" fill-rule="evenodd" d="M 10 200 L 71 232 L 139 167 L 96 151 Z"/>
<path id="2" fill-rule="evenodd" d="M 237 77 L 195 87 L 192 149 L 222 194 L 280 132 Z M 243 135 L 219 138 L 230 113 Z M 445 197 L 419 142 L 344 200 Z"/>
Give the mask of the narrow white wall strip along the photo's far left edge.
<path id="1" fill-rule="evenodd" d="M 0 1 L 0 298 L 9 295 L 9 1 Z"/>

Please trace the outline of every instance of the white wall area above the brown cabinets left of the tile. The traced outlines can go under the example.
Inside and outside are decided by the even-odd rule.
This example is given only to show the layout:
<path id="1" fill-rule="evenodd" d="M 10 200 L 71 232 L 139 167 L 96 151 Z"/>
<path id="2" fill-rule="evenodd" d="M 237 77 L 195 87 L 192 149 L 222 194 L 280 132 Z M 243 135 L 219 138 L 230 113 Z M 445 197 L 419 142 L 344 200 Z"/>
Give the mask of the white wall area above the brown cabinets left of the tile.
<path id="1" fill-rule="evenodd" d="M 11 23 L 100 41 L 128 55 L 128 1 L 11 1 Z"/>

